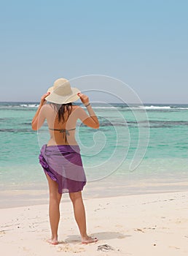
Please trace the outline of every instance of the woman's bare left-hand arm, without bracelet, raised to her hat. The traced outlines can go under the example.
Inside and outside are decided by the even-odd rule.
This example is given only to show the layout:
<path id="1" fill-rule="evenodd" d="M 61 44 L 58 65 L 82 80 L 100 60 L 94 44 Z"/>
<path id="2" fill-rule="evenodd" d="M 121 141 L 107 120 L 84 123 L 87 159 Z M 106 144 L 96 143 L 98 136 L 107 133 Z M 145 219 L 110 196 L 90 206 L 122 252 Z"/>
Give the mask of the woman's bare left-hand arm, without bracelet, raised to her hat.
<path id="1" fill-rule="evenodd" d="M 50 94 L 50 92 L 47 92 L 47 94 L 44 94 L 41 97 L 41 102 L 39 104 L 39 108 L 36 110 L 36 114 L 34 115 L 34 118 L 33 118 L 32 123 L 31 123 L 32 129 L 34 129 L 34 131 L 36 131 L 37 129 L 42 127 L 42 124 L 44 124 L 45 116 L 42 115 L 41 110 L 42 110 L 42 106 L 46 104 L 45 98 L 49 94 Z"/>

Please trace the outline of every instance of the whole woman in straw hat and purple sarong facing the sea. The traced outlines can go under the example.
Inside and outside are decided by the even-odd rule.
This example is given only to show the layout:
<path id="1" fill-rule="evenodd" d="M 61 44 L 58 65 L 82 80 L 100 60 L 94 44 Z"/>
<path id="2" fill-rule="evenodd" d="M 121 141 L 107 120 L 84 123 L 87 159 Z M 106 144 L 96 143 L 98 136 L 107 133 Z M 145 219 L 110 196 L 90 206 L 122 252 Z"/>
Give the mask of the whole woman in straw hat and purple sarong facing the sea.
<path id="1" fill-rule="evenodd" d="M 81 99 L 85 110 L 72 102 Z M 50 104 L 46 104 L 50 102 Z M 98 241 L 87 236 L 85 206 L 82 200 L 82 189 L 86 184 L 79 146 L 75 140 L 77 119 L 87 127 L 98 129 L 99 122 L 90 105 L 89 98 L 79 89 L 71 88 L 68 80 L 59 78 L 41 98 L 39 108 L 32 121 L 32 129 L 38 130 L 47 120 L 50 140 L 42 146 L 39 162 L 41 163 L 50 190 L 50 227 L 52 237 L 50 244 L 58 244 L 58 224 L 60 219 L 60 199 L 63 192 L 68 192 L 74 206 L 74 217 L 79 227 L 83 244 Z"/>

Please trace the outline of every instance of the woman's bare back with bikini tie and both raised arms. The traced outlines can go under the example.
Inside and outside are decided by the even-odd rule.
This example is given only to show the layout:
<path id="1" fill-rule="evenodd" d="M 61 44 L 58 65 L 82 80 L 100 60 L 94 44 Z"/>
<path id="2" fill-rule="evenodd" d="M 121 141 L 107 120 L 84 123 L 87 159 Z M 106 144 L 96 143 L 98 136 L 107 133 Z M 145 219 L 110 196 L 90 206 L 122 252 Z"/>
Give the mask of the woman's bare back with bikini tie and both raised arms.
<path id="1" fill-rule="evenodd" d="M 91 108 L 90 103 L 88 104 L 89 99 L 86 95 L 79 93 L 79 97 L 82 103 L 85 104 L 89 115 L 87 115 L 83 108 L 77 105 L 71 105 L 71 103 L 63 104 L 59 107 L 54 103 L 45 104 L 45 97 L 47 97 L 47 95 L 49 94 L 42 96 L 42 101 L 32 121 L 32 129 L 38 130 L 47 119 L 50 131 L 50 140 L 47 146 L 77 145 L 75 129 L 78 118 L 87 127 L 98 129 L 98 118 L 95 116 L 95 112 L 93 108 Z"/>

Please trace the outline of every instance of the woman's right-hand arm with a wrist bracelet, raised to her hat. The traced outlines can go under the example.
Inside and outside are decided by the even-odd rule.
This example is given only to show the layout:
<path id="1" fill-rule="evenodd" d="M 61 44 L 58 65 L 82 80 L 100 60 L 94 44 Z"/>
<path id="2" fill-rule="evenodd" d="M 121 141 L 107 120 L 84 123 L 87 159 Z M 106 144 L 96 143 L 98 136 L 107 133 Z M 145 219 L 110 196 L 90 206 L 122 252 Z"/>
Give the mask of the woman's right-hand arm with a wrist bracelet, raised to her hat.
<path id="1" fill-rule="evenodd" d="M 97 116 L 95 115 L 95 112 L 94 112 L 93 108 L 90 105 L 89 98 L 87 97 L 87 95 L 81 94 L 81 93 L 79 93 L 78 96 L 81 99 L 82 103 L 87 108 L 87 111 L 90 115 L 90 116 L 88 116 L 87 113 L 85 112 L 85 110 L 80 108 L 80 110 L 79 110 L 79 119 L 85 125 L 87 125 L 87 127 L 92 127 L 94 129 L 98 129 L 99 128 L 99 121 L 98 121 Z"/>

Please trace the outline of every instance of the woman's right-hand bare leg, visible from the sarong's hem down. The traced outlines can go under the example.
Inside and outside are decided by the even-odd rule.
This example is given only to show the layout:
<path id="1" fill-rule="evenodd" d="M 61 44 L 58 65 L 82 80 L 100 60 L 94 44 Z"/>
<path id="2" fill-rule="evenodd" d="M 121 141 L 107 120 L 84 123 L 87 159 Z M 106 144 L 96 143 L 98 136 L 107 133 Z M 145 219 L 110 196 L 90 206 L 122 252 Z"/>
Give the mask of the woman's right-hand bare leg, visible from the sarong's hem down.
<path id="1" fill-rule="evenodd" d="M 71 198 L 71 201 L 73 203 L 74 207 L 74 217 L 76 219 L 77 225 L 79 227 L 79 233 L 82 237 L 82 243 L 83 244 L 89 244 L 93 243 L 95 241 L 98 241 L 97 238 L 92 238 L 90 236 L 87 236 L 87 230 L 86 230 L 86 218 L 85 218 L 85 206 L 82 200 L 82 192 L 72 192 L 69 193 L 69 196 Z"/>

